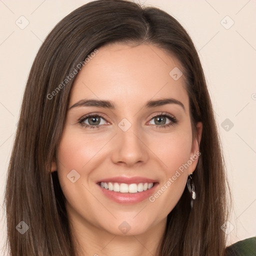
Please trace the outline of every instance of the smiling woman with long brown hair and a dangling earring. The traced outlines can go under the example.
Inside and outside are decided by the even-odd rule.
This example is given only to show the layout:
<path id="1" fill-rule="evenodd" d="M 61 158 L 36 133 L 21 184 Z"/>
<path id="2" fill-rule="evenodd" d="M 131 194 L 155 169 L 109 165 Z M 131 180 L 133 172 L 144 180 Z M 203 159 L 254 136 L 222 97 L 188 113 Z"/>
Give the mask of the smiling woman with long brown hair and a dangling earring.
<path id="1" fill-rule="evenodd" d="M 31 67 L 6 184 L 11 255 L 225 255 L 202 67 L 169 14 L 87 3 Z"/>

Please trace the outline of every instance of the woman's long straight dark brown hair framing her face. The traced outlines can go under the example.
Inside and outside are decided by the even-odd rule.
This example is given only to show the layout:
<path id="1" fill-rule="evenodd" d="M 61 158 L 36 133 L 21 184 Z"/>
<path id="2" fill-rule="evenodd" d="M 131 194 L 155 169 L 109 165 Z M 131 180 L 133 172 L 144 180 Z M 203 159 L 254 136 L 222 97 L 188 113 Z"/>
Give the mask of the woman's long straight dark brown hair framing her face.
<path id="1" fill-rule="evenodd" d="M 57 172 L 49 172 L 75 75 L 63 81 L 94 49 L 111 42 L 144 42 L 175 56 L 186 78 L 193 129 L 198 121 L 203 125 L 201 155 L 193 172 L 197 198 L 190 208 L 190 194 L 184 189 L 167 216 L 160 255 L 224 255 L 226 237 L 220 227 L 228 217 L 229 187 L 198 54 L 175 18 L 126 0 L 97 0 L 75 9 L 53 28 L 34 59 L 5 190 L 9 252 L 13 256 L 76 255 Z M 29 227 L 24 234 L 15 228 L 20 221 Z"/>

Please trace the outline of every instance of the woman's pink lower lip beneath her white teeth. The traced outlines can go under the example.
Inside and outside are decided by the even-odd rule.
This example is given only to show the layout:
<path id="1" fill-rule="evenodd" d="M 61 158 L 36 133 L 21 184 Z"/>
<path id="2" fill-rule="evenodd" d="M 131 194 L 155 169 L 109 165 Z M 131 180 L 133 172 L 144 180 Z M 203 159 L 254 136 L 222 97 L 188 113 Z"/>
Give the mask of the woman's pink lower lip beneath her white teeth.
<path id="1" fill-rule="evenodd" d="M 156 189 L 158 183 L 154 183 L 154 185 L 147 190 L 136 192 L 136 193 L 121 193 L 121 192 L 115 192 L 113 190 L 105 189 L 100 186 L 100 184 L 97 184 L 101 191 L 105 196 L 107 196 L 109 199 L 118 202 L 118 203 L 126 203 L 126 204 L 132 204 L 132 203 L 138 203 L 146 198 L 148 198 Z"/>

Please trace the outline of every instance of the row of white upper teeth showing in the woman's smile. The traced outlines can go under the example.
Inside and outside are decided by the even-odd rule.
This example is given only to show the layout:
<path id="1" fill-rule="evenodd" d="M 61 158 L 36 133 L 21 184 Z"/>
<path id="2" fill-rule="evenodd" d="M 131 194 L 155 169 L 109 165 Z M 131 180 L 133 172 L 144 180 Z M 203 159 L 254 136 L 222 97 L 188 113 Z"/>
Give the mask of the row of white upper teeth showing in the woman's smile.
<path id="1" fill-rule="evenodd" d="M 120 193 L 136 193 L 136 192 L 142 192 L 147 189 L 150 189 L 153 186 L 153 183 L 132 183 L 132 184 L 126 184 L 126 183 L 117 183 L 117 182 L 100 182 L 100 186 L 102 188 L 113 190 L 115 192 Z"/>

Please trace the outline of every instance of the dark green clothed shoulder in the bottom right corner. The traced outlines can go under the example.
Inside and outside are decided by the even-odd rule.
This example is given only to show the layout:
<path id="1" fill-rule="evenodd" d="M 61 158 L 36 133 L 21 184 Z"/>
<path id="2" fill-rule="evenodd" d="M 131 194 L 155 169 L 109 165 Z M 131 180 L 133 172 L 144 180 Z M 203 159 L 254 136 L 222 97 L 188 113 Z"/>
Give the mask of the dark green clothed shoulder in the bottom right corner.
<path id="1" fill-rule="evenodd" d="M 256 236 L 229 245 L 225 256 L 256 256 Z"/>

